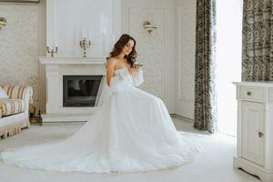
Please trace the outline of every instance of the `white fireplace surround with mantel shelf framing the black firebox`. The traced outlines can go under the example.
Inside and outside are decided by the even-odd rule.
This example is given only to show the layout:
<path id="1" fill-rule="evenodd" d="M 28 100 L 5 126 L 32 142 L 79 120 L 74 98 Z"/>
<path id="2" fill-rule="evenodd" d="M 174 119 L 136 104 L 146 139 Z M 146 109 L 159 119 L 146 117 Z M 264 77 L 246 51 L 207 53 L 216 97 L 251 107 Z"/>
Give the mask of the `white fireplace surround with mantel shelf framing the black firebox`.
<path id="1" fill-rule="evenodd" d="M 39 57 L 45 65 L 46 113 L 43 122 L 86 121 L 96 112 L 96 106 L 63 106 L 63 76 L 106 75 L 105 58 Z"/>

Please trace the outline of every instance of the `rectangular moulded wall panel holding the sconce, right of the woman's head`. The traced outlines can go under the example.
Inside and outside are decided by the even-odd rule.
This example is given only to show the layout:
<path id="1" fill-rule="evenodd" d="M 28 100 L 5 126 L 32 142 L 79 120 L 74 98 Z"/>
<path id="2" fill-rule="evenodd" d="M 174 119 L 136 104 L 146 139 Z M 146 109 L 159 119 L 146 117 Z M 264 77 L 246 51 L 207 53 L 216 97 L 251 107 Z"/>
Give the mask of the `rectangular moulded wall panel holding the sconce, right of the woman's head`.
<path id="1" fill-rule="evenodd" d="M 145 84 L 141 86 L 151 94 L 164 99 L 164 23 L 165 15 L 162 8 L 129 7 L 129 34 L 136 38 L 139 62 L 145 65 Z M 147 34 L 142 24 L 145 20 L 157 22 L 157 31 Z"/>

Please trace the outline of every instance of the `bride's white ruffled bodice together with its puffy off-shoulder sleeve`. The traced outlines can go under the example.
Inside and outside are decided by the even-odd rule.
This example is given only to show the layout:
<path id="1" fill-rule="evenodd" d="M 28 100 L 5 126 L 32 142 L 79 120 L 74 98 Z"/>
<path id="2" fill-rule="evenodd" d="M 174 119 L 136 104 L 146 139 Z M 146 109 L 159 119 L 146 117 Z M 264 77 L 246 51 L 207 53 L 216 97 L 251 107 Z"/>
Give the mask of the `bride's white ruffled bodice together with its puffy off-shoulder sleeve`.
<path id="1" fill-rule="evenodd" d="M 128 86 L 140 86 L 144 82 L 143 70 L 130 74 L 127 67 L 115 70 L 114 76 L 111 78 L 110 88 L 114 92 L 124 90 Z"/>

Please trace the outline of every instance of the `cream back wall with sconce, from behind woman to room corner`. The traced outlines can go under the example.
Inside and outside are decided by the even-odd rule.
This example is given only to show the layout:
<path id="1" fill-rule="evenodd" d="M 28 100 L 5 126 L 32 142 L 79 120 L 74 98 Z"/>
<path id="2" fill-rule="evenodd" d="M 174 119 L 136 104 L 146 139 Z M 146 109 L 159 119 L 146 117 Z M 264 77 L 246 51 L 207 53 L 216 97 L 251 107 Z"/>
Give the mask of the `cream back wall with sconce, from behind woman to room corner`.
<path id="1" fill-rule="evenodd" d="M 174 113 L 174 1 L 122 0 L 122 32 L 136 38 L 138 61 L 144 64 L 141 88 L 159 96 Z M 157 25 L 149 35 L 144 21 Z"/>

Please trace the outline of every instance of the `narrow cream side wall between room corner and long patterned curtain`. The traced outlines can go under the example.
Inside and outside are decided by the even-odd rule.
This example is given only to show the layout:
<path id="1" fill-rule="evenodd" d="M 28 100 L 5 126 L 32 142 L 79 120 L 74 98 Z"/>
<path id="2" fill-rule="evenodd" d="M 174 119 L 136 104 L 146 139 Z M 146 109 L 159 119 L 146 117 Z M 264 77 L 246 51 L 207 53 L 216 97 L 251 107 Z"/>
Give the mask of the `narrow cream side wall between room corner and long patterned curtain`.
<path id="1" fill-rule="evenodd" d="M 193 119 L 196 0 L 176 0 L 175 14 L 175 113 Z"/>

